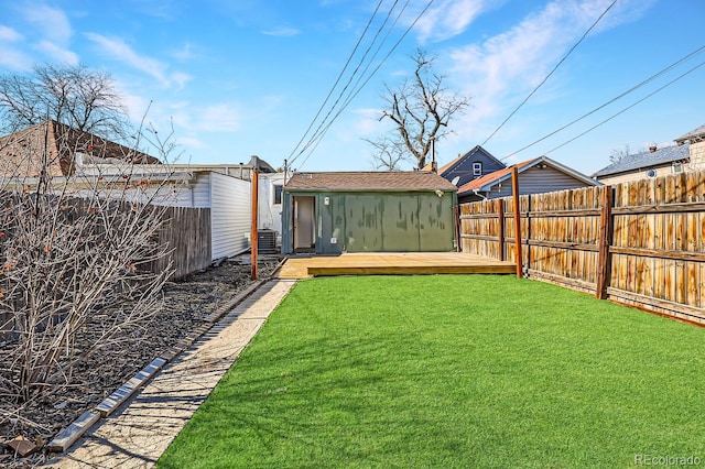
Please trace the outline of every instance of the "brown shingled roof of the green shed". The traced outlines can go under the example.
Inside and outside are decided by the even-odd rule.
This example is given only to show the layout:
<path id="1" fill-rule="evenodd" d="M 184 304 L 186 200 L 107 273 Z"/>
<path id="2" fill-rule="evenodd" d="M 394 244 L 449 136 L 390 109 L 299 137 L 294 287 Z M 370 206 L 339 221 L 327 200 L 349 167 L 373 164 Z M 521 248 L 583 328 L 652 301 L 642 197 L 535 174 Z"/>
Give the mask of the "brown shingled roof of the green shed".
<path id="1" fill-rule="evenodd" d="M 339 172 L 295 173 L 285 190 L 456 190 L 453 184 L 435 173 L 425 171 L 400 172 Z"/>

